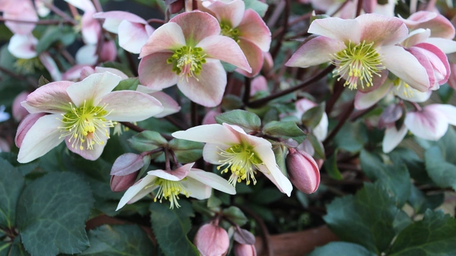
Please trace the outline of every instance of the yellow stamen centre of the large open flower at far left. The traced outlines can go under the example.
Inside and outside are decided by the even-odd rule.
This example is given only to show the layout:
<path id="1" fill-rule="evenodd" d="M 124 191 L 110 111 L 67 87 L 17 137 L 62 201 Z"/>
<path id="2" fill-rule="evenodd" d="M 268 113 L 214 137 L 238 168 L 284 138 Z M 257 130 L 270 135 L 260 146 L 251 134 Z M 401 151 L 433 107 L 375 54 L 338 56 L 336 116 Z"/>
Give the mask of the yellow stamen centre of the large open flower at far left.
<path id="1" fill-rule="evenodd" d="M 83 144 L 86 143 L 87 150 L 93 150 L 93 145 L 103 145 L 105 141 L 102 141 L 100 136 L 105 135 L 109 138 L 109 127 L 114 127 L 116 122 L 112 120 L 106 120 L 109 113 L 105 110 L 105 106 L 86 106 L 76 108 L 70 102 L 69 105 L 72 111 L 62 114 L 62 127 L 60 129 L 62 135 L 59 138 L 69 137 L 68 142 L 72 143 L 72 148 L 79 148 L 83 150 Z M 100 134 L 101 132 L 101 134 Z"/>

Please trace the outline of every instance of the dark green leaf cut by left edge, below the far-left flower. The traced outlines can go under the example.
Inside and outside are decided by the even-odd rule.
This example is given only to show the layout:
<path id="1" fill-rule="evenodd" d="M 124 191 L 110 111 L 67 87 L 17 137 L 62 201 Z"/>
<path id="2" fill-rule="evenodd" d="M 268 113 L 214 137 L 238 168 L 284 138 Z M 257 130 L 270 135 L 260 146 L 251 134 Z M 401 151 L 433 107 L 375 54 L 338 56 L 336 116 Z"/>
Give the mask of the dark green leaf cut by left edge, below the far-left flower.
<path id="1" fill-rule="evenodd" d="M 0 159 L 0 227 L 15 226 L 16 205 L 25 180 L 18 169 Z"/>

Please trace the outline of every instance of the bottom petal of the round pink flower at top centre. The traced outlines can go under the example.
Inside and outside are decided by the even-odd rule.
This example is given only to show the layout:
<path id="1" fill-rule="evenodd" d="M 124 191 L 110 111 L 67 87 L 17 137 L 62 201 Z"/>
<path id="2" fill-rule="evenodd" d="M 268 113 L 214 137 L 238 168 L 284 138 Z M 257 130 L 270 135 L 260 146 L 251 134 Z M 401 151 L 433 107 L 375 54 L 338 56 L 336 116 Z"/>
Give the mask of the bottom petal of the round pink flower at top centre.
<path id="1" fill-rule="evenodd" d="M 203 69 L 196 78 L 190 77 L 187 80 L 182 76 L 179 79 L 179 90 L 197 104 L 210 108 L 222 102 L 227 73 L 217 59 L 206 59 L 206 64 L 203 64 Z"/>

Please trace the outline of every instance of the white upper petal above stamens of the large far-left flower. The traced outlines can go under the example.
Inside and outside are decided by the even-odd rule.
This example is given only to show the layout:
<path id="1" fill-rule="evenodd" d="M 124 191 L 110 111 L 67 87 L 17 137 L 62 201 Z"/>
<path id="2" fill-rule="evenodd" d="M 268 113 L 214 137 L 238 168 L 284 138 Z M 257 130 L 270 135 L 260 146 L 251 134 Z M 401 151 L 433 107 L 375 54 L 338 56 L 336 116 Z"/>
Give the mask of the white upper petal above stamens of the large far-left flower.
<path id="1" fill-rule="evenodd" d="M 86 102 L 97 106 L 100 100 L 116 87 L 122 78 L 110 72 L 93 73 L 67 88 L 68 96 L 77 107 Z"/>

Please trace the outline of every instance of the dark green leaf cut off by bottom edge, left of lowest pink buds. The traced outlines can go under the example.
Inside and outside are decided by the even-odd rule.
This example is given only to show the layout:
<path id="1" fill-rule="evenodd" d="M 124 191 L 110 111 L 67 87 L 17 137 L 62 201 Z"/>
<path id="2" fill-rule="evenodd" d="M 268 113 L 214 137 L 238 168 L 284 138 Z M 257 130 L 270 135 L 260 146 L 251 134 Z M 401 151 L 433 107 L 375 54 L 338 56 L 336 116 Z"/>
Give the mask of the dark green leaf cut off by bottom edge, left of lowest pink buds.
<path id="1" fill-rule="evenodd" d="M 88 232 L 90 248 L 81 255 L 154 255 L 154 245 L 138 225 L 102 225 Z"/>

